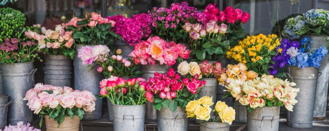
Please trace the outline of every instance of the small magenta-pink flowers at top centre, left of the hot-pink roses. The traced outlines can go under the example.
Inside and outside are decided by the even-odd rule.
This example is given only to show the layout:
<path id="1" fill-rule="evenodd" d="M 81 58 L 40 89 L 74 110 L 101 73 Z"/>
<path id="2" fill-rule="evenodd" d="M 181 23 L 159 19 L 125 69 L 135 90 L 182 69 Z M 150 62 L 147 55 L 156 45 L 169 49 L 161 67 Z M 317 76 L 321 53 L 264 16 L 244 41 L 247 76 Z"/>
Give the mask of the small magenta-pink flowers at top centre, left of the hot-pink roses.
<path id="1" fill-rule="evenodd" d="M 158 24 L 164 24 L 165 28 L 176 28 L 191 19 L 196 19 L 200 12 L 196 8 L 190 7 L 187 2 L 173 3 L 170 8 L 153 8 L 148 13 L 153 18 L 152 26 L 157 28 Z"/>

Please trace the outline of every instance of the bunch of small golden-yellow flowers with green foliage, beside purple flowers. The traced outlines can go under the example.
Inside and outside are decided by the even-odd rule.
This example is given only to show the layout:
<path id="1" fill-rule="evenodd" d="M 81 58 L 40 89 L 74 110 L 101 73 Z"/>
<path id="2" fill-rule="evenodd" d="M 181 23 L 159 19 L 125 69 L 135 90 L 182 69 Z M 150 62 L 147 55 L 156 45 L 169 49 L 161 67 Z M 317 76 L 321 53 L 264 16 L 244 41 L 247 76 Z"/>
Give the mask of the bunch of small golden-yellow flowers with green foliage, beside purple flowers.
<path id="1" fill-rule="evenodd" d="M 275 34 L 259 34 L 247 36 L 226 53 L 227 58 L 234 59 L 247 65 L 247 68 L 258 74 L 269 74 L 272 56 L 276 55 L 276 49 L 280 46 L 280 40 Z"/>

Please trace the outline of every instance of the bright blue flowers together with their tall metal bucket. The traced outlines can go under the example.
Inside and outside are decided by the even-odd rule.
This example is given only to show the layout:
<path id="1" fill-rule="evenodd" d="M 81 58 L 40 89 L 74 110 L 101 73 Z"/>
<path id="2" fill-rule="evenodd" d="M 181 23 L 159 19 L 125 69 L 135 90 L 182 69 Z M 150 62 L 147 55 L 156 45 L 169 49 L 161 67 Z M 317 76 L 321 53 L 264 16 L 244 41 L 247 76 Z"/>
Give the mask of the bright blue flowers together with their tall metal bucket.
<path id="1" fill-rule="evenodd" d="M 287 112 L 287 124 L 295 128 L 311 128 L 314 113 L 314 104 L 317 91 L 317 83 L 319 77 L 319 67 L 322 59 L 327 55 L 328 50 L 321 46 L 315 51 L 310 47 L 310 39 L 304 37 L 298 48 L 290 47 L 287 54 L 290 56 L 288 60 L 287 73 L 289 79 L 296 83 L 301 92 L 296 97 L 298 103 L 295 106 L 295 112 Z M 308 103 L 312 106 L 305 108 L 303 105 Z M 302 113 L 303 112 L 303 113 Z M 301 123 L 303 124 L 297 124 Z"/>

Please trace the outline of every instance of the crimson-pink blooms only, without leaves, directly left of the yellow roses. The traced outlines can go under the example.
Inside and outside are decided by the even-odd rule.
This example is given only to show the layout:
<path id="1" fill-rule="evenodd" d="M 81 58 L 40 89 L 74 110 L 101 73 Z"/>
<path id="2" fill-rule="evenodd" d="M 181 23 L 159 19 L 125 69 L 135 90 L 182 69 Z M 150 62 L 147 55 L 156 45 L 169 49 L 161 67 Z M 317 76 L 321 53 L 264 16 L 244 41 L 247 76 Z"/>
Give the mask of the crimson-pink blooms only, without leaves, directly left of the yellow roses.
<path id="1" fill-rule="evenodd" d="M 167 74 L 154 73 L 154 77 L 150 78 L 146 83 L 145 97 L 150 102 L 153 101 L 153 96 L 156 95 L 162 99 L 174 99 L 177 97 L 178 92 L 186 88 L 192 94 L 196 94 L 198 89 L 206 84 L 206 81 L 200 81 L 196 78 L 191 80 L 184 78 L 180 80 L 179 74 L 176 74 L 174 69 L 170 68 Z M 179 96 L 178 96 L 179 97 Z"/>

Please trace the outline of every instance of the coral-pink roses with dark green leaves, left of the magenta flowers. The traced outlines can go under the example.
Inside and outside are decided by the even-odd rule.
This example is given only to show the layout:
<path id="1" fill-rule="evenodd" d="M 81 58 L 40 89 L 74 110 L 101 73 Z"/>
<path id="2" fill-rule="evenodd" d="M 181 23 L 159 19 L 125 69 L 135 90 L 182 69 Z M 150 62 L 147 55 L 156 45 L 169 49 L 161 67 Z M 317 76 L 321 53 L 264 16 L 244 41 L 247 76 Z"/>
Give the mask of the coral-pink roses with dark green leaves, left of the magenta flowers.
<path id="1" fill-rule="evenodd" d="M 83 45 L 109 45 L 115 38 L 121 39 L 111 31 L 115 21 L 103 18 L 100 14 L 92 13 L 90 19 L 72 18 L 65 27 L 72 31 L 72 36 L 77 44 Z"/>

